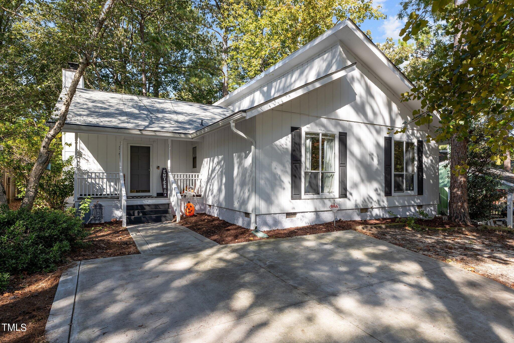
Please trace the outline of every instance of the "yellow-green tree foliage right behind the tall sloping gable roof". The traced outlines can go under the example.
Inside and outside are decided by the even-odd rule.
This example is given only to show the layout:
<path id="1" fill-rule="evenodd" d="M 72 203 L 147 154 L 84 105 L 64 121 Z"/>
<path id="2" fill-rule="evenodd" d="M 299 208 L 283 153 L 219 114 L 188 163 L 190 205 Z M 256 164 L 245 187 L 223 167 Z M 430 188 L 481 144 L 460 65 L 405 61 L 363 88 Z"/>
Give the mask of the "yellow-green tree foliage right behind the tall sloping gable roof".
<path id="1" fill-rule="evenodd" d="M 228 51 L 229 87 L 234 89 L 279 62 L 335 24 L 383 19 L 380 5 L 366 0 L 270 1 L 226 3 L 232 45 Z"/>

